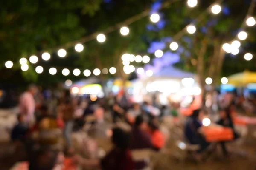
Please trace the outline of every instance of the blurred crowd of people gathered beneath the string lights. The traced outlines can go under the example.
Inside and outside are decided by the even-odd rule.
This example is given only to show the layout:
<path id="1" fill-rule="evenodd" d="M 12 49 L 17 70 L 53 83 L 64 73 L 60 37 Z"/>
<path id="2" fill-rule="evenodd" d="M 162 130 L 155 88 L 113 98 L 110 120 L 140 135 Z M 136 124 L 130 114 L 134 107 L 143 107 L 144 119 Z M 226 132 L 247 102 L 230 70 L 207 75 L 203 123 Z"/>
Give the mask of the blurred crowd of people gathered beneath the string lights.
<path id="1" fill-rule="evenodd" d="M 38 96 L 36 85 L 30 85 L 28 90 L 20 96 L 20 112 L 18 123 L 12 130 L 12 141 L 17 150 L 25 147 L 33 166 L 32 170 L 53 169 L 58 164 L 58 157 L 63 157 L 62 147 L 52 147 L 58 144 L 59 138 L 64 138 L 64 153 L 73 157 L 73 163 L 80 166 L 103 170 L 147 170 L 149 160 L 134 161 L 132 150 L 151 149 L 160 151 L 166 144 L 168 136 L 160 130 L 164 116 L 178 116 L 179 105 L 157 106 L 153 102 L 133 103 L 122 92 L 111 96 L 108 100 L 91 101 L 87 97 L 75 97 L 69 90 L 63 91 L 58 97 L 46 100 Z M 234 130 L 232 116 L 233 105 L 220 109 L 220 119 L 216 122 L 224 127 L 230 127 L 234 132 L 234 139 L 238 137 Z M 106 113 L 110 113 L 111 120 L 107 120 Z M 199 133 L 202 127 L 202 117 L 205 111 L 194 110 L 184 125 L 184 137 L 191 144 L 199 144 L 198 159 L 210 144 Z M 93 121 L 88 121 L 93 116 Z M 118 123 L 122 122 L 125 128 Z M 84 129 L 93 138 L 111 139 L 113 148 L 104 158 L 83 158 L 76 153 L 72 133 Z M 37 134 L 35 138 L 35 133 Z M 59 136 L 57 138 L 56 136 Z M 38 144 L 33 150 L 31 146 Z M 224 142 L 220 142 L 224 155 L 227 149 Z M 28 147 L 29 146 L 29 147 Z M 80 146 L 85 147 L 85 146 Z M 58 148 L 58 149 L 56 149 Z M 54 158 L 54 159 L 53 159 Z M 53 161 L 55 160 L 55 161 Z M 35 162 L 38 162 L 35 163 Z M 42 163 L 44 162 L 44 163 Z M 46 170 L 46 169 L 45 169 Z"/>

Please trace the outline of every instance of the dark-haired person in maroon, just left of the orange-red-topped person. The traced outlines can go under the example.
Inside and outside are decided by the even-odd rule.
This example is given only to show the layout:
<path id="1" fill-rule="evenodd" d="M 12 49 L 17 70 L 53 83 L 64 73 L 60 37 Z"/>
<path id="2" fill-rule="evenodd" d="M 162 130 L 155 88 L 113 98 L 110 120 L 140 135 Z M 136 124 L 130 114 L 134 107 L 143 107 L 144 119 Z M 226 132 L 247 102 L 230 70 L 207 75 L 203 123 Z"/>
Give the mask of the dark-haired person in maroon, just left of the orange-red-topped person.
<path id="1" fill-rule="evenodd" d="M 137 116 L 134 122 L 134 127 L 131 130 L 131 149 L 154 149 L 150 136 L 146 132 L 147 123 L 142 115 Z M 135 169 L 141 170 L 148 167 L 146 161 L 135 162 Z"/>

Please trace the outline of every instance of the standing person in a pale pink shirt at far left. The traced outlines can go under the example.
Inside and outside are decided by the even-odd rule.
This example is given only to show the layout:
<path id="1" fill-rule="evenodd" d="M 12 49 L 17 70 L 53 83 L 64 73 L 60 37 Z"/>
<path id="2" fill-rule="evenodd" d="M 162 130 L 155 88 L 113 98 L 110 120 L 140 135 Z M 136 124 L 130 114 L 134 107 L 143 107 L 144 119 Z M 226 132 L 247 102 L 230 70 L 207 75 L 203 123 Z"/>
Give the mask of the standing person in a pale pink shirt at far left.
<path id="1" fill-rule="evenodd" d="M 34 95 L 37 93 L 36 85 L 29 85 L 27 91 L 20 96 L 19 113 L 25 116 L 25 122 L 31 124 L 34 121 L 35 113 L 35 99 Z"/>

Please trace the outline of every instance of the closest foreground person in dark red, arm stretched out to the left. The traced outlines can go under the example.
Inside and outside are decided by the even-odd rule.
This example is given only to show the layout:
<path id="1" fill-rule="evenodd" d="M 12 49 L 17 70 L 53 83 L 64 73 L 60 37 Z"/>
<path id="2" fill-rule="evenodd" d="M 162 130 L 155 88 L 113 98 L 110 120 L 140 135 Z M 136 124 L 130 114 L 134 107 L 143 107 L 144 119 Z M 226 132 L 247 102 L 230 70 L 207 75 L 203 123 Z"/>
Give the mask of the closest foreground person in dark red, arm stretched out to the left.
<path id="1" fill-rule="evenodd" d="M 102 160 L 83 159 L 81 156 L 76 155 L 73 158 L 74 162 L 82 167 L 101 167 L 102 170 L 134 170 L 134 161 L 130 150 L 130 133 L 115 127 L 113 129 L 112 142 L 114 148 Z"/>

